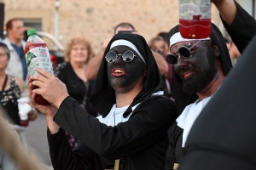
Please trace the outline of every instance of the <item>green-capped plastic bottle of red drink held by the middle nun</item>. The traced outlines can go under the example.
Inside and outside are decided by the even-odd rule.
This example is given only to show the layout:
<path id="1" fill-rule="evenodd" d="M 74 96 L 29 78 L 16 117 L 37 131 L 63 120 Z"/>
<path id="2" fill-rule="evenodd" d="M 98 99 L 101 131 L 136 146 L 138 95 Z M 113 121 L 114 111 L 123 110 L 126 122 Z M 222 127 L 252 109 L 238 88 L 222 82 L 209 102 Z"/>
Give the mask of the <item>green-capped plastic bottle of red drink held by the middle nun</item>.
<path id="1" fill-rule="evenodd" d="M 53 74 L 53 67 L 49 58 L 49 49 L 44 40 L 38 37 L 35 29 L 27 31 L 27 36 L 25 54 L 28 75 L 32 76 L 38 74 L 36 71 L 37 67 Z M 34 86 L 33 89 L 35 88 L 38 87 Z M 39 105 L 49 105 L 49 102 L 39 94 L 36 94 L 36 102 Z"/>

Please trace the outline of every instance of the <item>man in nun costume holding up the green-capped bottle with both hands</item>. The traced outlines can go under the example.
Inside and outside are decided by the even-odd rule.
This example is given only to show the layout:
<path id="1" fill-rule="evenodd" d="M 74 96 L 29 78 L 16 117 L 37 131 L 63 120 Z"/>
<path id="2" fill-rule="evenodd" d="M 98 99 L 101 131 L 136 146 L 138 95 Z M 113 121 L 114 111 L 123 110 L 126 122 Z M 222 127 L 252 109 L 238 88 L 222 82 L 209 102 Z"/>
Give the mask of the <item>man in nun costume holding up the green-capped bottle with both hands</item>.
<path id="1" fill-rule="evenodd" d="M 37 71 L 29 91 L 46 115 L 54 169 L 113 169 L 114 162 L 120 169 L 164 169 L 176 105 L 160 91 L 160 71 L 142 36 L 119 33 L 108 43 L 90 97 L 101 114 L 96 118 L 68 96 L 56 77 Z M 35 94 L 51 105 L 36 104 Z M 74 150 L 65 131 L 80 141 Z"/>

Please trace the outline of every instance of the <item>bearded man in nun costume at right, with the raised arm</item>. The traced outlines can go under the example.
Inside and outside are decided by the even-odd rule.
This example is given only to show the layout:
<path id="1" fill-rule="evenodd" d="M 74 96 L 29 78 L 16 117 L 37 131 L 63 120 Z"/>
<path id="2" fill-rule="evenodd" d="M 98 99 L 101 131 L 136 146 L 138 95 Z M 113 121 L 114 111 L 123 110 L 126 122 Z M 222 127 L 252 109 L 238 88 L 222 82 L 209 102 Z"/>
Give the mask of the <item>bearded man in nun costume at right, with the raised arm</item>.
<path id="1" fill-rule="evenodd" d="M 256 34 L 255 20 L 233 0 L 212 3 L 218 8 L 224 26 L 242 52 Z M 183 163 L 183 150 L 191 127 L 232 68 L 224 37 L 213 24 L 210 37 L 204 39 L 184 39 L 178 26 L 172 28 L 169 37 L 171 54 L 166 56 L 166 61 L 174 68 L 174 98 L 177 112 L 181 115 L 168 130 L 166 170 L 173 169 L 175 163 Z"/>

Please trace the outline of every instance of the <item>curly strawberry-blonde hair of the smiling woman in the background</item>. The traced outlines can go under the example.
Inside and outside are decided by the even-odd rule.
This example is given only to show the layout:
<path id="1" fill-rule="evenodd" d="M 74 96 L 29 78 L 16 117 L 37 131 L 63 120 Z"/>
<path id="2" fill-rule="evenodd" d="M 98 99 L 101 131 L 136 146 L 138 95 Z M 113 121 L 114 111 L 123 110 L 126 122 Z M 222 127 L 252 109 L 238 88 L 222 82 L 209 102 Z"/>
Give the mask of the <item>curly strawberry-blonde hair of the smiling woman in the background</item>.
<path id="1" fill-rule="evenodd" d="M 91 48 L 91 45 L 90 45 L 90 42 L 86 40 L 85 37 L 83 36 L 76 36 L 76 37 L 73 37 L 70 42 L 67 43 L 67 47 L 65 49 L 65 58 L 64 60 L 66 62 L 70 61 L 70 53 L 71 53 L 71 50 L 73 48 L 74 45 L 76 44 L 83 44 L 85 46 L 85 48 L 87 49 L 87 52 L 88 52 L 88 58 L 86 59 L 85 61 L 85 64 L 87 64 L 89 62 L 89 60 L 93 57 L 93 51 L 92 51 L 92 48 Z"/>

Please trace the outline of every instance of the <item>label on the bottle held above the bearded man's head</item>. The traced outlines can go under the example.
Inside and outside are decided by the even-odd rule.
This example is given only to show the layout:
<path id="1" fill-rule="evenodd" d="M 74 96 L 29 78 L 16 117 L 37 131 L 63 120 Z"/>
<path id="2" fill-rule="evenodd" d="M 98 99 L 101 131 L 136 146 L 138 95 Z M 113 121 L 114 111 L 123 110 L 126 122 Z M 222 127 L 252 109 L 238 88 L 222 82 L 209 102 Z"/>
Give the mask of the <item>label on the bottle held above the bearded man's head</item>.
<path id="1" fill-rule="evenodd" d="M 211 19 L 210 0 L 179 0 L 179 19 Z"/>

